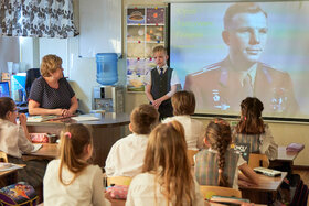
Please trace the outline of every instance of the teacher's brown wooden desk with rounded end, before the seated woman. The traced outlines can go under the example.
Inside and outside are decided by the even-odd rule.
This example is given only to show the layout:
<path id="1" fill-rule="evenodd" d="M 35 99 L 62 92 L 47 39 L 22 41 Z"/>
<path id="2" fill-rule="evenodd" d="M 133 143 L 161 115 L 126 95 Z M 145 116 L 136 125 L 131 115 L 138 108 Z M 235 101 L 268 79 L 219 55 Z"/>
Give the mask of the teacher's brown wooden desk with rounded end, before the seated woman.
<path id="1" fill-rule="evenodd" d="M 130 122 L 130 118 L 127 113 L 115 112 L 107 112 L 105 115 L 94 113 L 94 116 L 99 118 L 99 120 L 76 122 L 67 118 L 57 121 L 28 122 L 26 127 L 30 133 L 55 133 L 60 135 L 61 130 L 68 123 L 89 126 L 94 138 L 94 164 L 104 166 L 111 145 L 125 137 L 125 130 Z"/>

